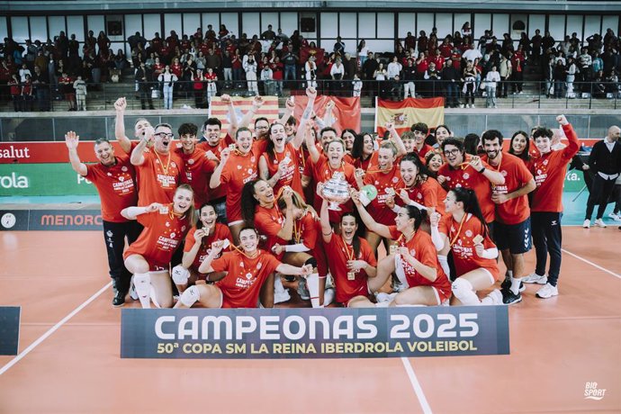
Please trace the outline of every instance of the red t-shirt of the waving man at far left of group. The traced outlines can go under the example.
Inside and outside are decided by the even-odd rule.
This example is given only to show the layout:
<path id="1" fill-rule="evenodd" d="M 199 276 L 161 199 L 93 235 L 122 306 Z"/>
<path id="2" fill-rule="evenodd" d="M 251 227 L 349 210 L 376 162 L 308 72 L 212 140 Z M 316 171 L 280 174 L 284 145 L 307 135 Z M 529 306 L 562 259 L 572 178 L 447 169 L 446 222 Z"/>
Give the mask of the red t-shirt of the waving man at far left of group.
<path id="1" fill-rule="evenodd" d="M 85 178 L 99 192 L 103 220 L 122 223 L 127 219 L 121 216 L 121 210 L 138 202 L 136 171 L 127 155 L 115 159 L 116 164 L 113 166 L 103 166 L 101 163 L 86 165 Z"/>

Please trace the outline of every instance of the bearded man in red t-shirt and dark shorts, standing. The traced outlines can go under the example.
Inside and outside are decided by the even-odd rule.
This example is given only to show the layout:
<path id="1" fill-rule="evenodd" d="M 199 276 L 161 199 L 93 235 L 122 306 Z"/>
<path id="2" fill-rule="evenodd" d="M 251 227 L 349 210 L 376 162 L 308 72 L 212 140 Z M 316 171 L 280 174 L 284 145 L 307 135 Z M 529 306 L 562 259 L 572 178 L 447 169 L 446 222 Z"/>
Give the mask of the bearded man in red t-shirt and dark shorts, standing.
<path id="1" fill-rule="evenodd" d="M 482 159 L 505 177 L 505 184 L 491 187 L 491 201 L 496 204 L 494 236 L 507 266 L 503 302 L 518 303 L 522 301 L 519 278 L 524 275 L 524 254 L 531 247 L 527 193 L 535 190 L 535 179 L 520 158 L 502 152 L 500 130 L 483 132 L 482 143 L 487 154 Z"/>

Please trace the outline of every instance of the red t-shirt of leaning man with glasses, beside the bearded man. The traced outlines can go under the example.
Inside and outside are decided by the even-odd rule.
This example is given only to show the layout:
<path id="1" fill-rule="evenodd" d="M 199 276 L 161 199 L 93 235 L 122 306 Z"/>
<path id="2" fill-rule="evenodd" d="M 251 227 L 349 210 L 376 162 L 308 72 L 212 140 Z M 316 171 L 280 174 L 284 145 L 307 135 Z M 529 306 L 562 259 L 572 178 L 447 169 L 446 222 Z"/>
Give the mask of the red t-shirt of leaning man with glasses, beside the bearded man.
<path id="1" fill-rule="evenodd" d="M 466 154 L 464 163 L 470 162 L 470 159 L 471 156 Z M 484 161 L 482 161 L 482 165 L 485 166 L 485 168 L 491 168 L 490 165 Z M 446 176 L 445 183 L 448 188 L 465 187 L 474 190 L 485 221 L 491 223 L 491 221 L 494 220 L 496 204 L 491 201 L 491 183 L 485 175 L 480 174 L 469 165 L 453 169 L 448 164 L 440 166 L 437 175 Z"/>

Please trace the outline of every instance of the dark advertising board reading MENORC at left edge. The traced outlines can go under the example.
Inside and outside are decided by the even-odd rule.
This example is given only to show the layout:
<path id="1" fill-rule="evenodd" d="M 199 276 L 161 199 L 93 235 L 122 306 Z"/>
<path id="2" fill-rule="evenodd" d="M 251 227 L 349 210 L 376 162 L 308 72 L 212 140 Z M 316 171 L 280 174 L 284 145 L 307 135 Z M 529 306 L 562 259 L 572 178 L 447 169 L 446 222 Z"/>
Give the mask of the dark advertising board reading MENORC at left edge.
<path id="1" fill-rule="evenodd" d="M 101 229 L 99 210 L 0 210 L 0 231 Z"/>

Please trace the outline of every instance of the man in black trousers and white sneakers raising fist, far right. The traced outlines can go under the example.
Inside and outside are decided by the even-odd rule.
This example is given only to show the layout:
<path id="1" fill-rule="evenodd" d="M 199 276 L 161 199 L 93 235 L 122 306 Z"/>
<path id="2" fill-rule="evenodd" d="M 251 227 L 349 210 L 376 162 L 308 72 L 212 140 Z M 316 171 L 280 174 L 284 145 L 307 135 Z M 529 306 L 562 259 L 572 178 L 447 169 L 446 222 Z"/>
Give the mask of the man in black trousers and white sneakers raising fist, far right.
<path id="1" fill-rule="evenodd" d="M 563 149 L 552 149 L 552 130 L 538 128 L 533 133 L 540 156 L 533 160 L 530 171 L 535 176 L 536 190 L 531 202 L 533 220 L 533 243 L 536 250 L 535 273 L 523 278 L 525 284 L 545 284 L 537 291 L 541 299 L 559 294 L 557 282 L 561 271 L 561 217 L 563 215 L 563 183 L 567 164 L 580 149 L 580 141 L 572 125 L 564 115 L 556 117 L 561 124 L 569 145 Z M 550 254 L 550 268 L 545 277 L 545 264 Z"/>

